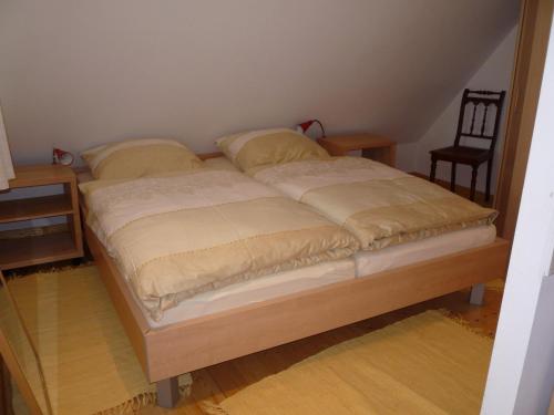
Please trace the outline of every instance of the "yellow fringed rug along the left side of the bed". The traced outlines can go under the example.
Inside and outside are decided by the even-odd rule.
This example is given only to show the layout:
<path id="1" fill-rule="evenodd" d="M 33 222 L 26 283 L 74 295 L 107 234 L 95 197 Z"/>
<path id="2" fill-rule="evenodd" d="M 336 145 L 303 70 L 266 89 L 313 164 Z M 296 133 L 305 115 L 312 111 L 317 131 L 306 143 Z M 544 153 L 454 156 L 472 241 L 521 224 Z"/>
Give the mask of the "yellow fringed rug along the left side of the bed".
<path id="1" fill-rule="evenodd" d="M 37 273 L 9 287 L 37 344 L 54 414 L 133 413 L 155 402 L 95 267 Z M 179 382 L 186 393 L 191 376 Z"/>

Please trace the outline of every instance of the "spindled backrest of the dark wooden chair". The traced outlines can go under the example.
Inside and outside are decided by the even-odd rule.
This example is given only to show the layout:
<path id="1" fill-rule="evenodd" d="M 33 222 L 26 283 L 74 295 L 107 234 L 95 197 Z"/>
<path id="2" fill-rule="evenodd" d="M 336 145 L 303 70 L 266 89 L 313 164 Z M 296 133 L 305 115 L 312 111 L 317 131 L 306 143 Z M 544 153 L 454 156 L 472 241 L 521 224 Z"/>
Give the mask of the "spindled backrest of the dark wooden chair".
<path id="1" fill-rule="evenodd" d="M 454 139 L 455 147 L 460 145 L 461 137 L 471 137 L 490 141 L 489 148 L 491 152 L 494 151 L 505 94 L 505 91 L 471 91 L 468 89 L 463 91 Z"/>

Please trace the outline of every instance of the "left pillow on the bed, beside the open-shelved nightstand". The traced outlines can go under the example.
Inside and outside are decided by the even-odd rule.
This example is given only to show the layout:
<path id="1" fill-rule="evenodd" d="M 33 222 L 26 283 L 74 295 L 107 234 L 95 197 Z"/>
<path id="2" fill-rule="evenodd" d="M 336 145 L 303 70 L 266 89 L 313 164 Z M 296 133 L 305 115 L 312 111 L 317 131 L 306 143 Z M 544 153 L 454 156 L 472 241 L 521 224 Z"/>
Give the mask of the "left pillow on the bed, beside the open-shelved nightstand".
<path id="1" fill-rule="evenodd" d="M 174 139 L 130 139 L 91 148 L 81 157 L 95 179 L 137 178 L 203 166 L 194 153 Z"/>

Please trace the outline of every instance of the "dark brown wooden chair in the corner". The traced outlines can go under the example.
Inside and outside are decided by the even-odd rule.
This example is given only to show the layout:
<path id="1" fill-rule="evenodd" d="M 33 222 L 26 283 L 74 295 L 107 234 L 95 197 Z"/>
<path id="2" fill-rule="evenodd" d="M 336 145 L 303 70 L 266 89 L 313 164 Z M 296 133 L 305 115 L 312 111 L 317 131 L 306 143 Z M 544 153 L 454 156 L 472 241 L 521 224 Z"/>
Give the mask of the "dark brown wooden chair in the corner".
<path id="1" fill-rule="evenodd" d="M 465 164 L 472 167 L 471 174 L 471 194 L 470 199 L 475 199 L 475 184 L 478 179 L 479 166 L 486 162 L 486 193 L 485 200 L 489 201 L 491 198 L 491 174 L 492 174 L 492 162 L 494 158 L 494 146 L 496 145 L 496 138 L 499 136 L 500 118 L 502 114 L 502 106 L 504 104 L 505 91 L 492 92 L 492 91 L 470 91 L 464 90 L 462 96 L 462 104 L 460 106 L 460 116 L 458 118 L 458 129 L 455 133 L 454 145 L 451 147 L 444 147 L 439 149 L 433 149 L 429 152 L 431 154 L 431 174 L 429 179 L 434 181 L 434 176 L 437 172 L 437 162 L 450 162 L 452 163 L 451 178 L 450 178 L 450 190 L 455 191 L 455 168 L 458 164 Z M 480 106 L 483 107 L 480 111 Z M 495 112 L 490 111 L 490 106 L 495 107 Z M 466 110 L 473 108 L 473 112 L 466 113 Z M 468 116 L 471 114 L 471 117 Z M 478 114 L 480 114 L 480 120 L 478 125 L 475 125 L 475 120 Z M 491 117 L 494 116 L 491 128 Z M 468 120 L 466 120 L 468 118 Z M 469 128 L 464 127 L 464 124 L 470 124 Z M 490 133 L 492 129 L 492 133 Z M 489 148 L 469 147 L 460 145 L 460 139 L 462 137 L 471 137 L 489 141 Z"/>

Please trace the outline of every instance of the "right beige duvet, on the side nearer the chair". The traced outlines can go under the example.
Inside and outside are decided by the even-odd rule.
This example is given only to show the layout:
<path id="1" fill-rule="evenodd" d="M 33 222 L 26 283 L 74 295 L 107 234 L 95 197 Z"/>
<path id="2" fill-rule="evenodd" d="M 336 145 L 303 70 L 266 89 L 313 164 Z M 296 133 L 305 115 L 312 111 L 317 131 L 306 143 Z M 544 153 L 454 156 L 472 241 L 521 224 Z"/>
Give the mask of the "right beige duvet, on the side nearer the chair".
<path id="1" fill-rule="evenodd" d="M 496 217 L 493 209 L 360 157 L 293 162 L 248 174 L 342 225 L 366 250 L 492 224 Z"/>

